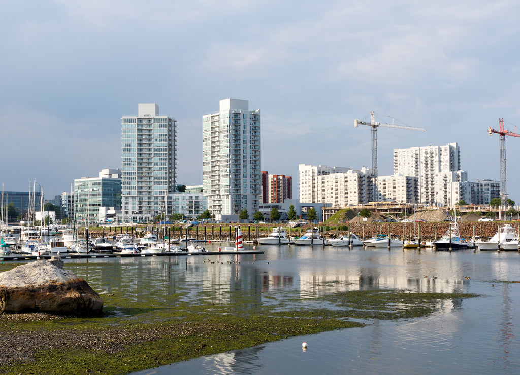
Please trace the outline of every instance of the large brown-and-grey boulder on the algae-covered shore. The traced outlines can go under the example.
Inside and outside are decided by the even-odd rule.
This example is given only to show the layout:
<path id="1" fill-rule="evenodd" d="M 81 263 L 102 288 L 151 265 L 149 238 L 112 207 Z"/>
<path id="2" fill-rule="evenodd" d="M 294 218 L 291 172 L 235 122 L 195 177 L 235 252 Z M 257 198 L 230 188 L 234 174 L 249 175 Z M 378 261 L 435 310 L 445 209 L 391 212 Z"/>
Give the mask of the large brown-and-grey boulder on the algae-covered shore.
<path id="1" fill-rule="evenodd" d="M 0 273 L 0 313 L 97 315 L 103 300 L 61 259 L 36 260 Z"/>

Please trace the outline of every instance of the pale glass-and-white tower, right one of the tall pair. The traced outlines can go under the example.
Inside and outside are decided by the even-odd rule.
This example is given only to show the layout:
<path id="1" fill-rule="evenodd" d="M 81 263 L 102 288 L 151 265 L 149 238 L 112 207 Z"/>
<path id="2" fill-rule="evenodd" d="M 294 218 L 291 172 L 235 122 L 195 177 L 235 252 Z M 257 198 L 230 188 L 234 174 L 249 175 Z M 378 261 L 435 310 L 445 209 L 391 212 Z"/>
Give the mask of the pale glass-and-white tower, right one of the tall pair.
<path id="1" fill-rule="evenodd" d="M 260 111 L 246 100 L 220 101 L 202 116 L 202 186 L 216 219 L 259 209 Z"/>

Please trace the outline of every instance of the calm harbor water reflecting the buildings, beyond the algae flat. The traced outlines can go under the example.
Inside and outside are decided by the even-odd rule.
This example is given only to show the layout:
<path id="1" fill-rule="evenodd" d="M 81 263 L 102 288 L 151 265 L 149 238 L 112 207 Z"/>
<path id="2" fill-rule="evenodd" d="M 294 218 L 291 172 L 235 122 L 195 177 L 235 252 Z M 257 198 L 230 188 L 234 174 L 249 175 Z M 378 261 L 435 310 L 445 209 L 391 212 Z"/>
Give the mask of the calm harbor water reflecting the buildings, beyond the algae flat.
<path id="1" fill-rule="evenodd" d="M 212 250 L 214 244 L 206 247 Z M 245 245 L 251 249 L 252 245 Z M 288 296 L 401 289 L 473 293 L 444 300 L 428 317 L 369 321 L 363 328 L 284 339 L 139 374 L 517 373 L 520 370 L 520 254 L 467 249 L 435 252 L 321 246 L 257 246 L 255 255 L 66 260 L 90 285 L 150 304 L 184 293 L 226 303 L 248 297 L 244 312 Z M 87 265 L 84 263 L 87 262 Z M 103 262 L 102 272 L 89 265 Z M 86 267 L 85 267 L 86 266 Z M 66 265 L 66 268 L 68 266 Z M 80 271 L 83 270 L 83 271 Z M 308 343 L 306 350 L 302 342 Z"/>

